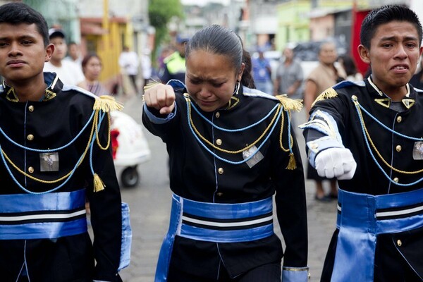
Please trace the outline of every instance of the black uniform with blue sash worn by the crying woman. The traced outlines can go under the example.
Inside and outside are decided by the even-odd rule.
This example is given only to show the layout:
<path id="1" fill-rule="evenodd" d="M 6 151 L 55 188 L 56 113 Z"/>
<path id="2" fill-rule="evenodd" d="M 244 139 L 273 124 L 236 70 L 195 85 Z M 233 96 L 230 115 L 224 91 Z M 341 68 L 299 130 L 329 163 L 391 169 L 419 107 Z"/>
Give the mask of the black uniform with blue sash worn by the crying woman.
<path id="1" fill-rule="evenodd" d="M 238 84 L 226 109 L 204 112 L 182 82 L 169 84 L 173 112 L 145 104 L 142 114 L 166 143 L 174 193 L 155 281 L 166 281 L 169 269 L 216 278 L 221 264 L 233 278 L 282 257 L 283 281 L 307 281 L 304 176 L 284 104 L 293 100 Z M 275 192 L 284 254 L 273 231 Z"/>

